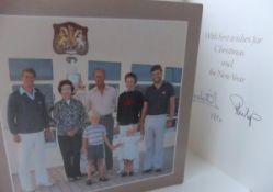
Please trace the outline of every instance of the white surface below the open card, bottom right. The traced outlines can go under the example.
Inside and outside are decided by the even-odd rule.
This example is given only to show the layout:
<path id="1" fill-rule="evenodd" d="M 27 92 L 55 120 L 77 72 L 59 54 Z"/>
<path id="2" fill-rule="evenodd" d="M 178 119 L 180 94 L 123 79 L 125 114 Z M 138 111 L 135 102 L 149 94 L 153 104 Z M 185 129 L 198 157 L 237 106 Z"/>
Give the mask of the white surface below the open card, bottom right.
<path id="1" fill-rule="evenodd" d="M 184 183 L 150 192 L 249 192 L 242 184 L 189 151 Z"/>

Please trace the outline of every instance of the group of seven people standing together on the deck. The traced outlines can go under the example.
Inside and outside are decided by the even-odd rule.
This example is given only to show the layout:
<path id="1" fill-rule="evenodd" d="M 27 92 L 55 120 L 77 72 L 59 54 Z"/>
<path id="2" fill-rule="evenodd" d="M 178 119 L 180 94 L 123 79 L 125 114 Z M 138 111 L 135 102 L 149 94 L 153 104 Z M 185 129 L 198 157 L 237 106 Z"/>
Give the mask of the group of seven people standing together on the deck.
<path id="1" fill-rule="evenodd" d="M 45 95 L 35 88 L 35 70 L 24 68 L 22 86 L 10 94 L 7 109 L 12 139 L 19 147 L 18 177 L 22 191 L 35 191 L 30 170 L 31 154 L 35 156 L 37 185 L 55 184 L 46 168 L 45 144 L 54 137 L 50 124 L 57 131 L 68 182 L 84 180 L 87 185 L 92 185 L 107 182 L 110 177 L 122 180 L 134 174 L 164 173 L 169 169 L 164 163 L 164 132 L 173 127 L 175 93 L 173 86 L 162 79 L 161 65 L 153 65 L 149 72 L 152 84 L 144 93 L 136 90 L 137 76 L 127 72 L 124 77 L 126 90 L 120 95 L 105 84 L 102 68 L 93 70 L 95 87 L 86 94 L 80 91 L 77 94 L 83 89 L 81 82 L 73 84 L 68 79 L 61 80 L 58 83 L 61 99 L 49 114 Z M 139 158 L 141 142 L 146 150 Z M 118 150 L 116 162 L 115 150 Z M 83 171 L 81 158 L 87 161 Z"/>

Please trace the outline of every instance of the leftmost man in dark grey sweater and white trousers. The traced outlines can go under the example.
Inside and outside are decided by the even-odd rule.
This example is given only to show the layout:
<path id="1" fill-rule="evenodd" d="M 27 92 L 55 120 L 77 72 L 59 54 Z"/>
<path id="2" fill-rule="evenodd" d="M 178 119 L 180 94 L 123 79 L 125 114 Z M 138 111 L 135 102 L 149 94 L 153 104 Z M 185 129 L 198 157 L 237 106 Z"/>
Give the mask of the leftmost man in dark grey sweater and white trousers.
<path id="1" fill-rule="evenodd" d="M 34 191 L 31 179 L 31 155 L 35 153 L 35 176 L 39 185 L 52 185 L 46 170 L 45 137 L 52 132 L 45 106 L 45 97 L 34 88 L 36 72 L 32 68 L 22 71 L 22 86 L 9 97 L 8 124 L 18 144 L 19 179 L 23 191 Z"/>

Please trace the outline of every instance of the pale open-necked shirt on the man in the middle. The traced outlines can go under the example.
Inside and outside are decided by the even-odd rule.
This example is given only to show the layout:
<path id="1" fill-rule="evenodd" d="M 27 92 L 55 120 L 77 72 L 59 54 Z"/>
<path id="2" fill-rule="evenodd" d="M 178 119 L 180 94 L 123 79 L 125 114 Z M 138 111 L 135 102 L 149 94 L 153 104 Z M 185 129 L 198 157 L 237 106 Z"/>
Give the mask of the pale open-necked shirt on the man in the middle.
<path id="1" fill-rule="evenodd" d="M 100 115 L 112 114 L 116 109 L 116 90 L 105 86 L 103 93 L 94 87 L 88 93 L 89 109 L 95 110 Z"/>

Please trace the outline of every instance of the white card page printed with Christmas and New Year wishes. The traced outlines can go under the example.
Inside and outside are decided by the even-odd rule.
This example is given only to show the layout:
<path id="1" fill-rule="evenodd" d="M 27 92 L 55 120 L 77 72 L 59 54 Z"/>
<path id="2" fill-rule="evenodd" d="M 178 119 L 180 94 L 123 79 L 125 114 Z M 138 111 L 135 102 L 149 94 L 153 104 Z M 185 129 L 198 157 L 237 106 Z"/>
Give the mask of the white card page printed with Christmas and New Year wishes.
<path id="1" fill-rule="evenodd" d="M 273 128 L 272 128 L 272 63 L 273 63 L 273 1 L 270 0 L 196 0 L 204 5 L 200 55 L 196 71 L 195 95 L 213 95 L 218 110 L 202 102 L 193 103 L 190 127 L 190 148 L 215 167 L 229 174 L 253 192 L 273 191 Z M 223 36 L 260 37 L 260 44 L 231 41 L 212 41 L 206 33 Z M 220 45 L 242 50 L 244 56 L 219 54 Z M 223 61 L 234 60 L 231 67 Z M 216 70 L 216 76 L 209 70 Z M 218 70 L 236 74 L 243 82 L 220 78 Z M 239 108 L 248 115 L 259 114 L 252 121 L 236 114 L 229 97 L 240 95 L 244 103 Z M 214 121 L 218 115 L 221 122 Z"/>

